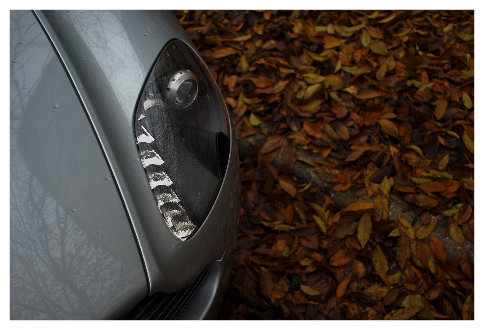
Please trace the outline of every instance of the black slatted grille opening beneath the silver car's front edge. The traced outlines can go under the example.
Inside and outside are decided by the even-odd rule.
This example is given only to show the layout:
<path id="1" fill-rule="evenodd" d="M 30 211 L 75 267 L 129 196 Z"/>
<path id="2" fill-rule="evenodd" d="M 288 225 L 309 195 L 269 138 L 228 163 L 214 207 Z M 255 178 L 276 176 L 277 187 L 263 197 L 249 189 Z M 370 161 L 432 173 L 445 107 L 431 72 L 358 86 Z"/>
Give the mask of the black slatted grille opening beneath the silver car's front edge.
<path id="1" fill-rule="evenodd" d="M 177 320 L 197 295 L 208 267 L 190 285 L 178 292 L 157 292 L 141 300 L 121 320 Z"/>

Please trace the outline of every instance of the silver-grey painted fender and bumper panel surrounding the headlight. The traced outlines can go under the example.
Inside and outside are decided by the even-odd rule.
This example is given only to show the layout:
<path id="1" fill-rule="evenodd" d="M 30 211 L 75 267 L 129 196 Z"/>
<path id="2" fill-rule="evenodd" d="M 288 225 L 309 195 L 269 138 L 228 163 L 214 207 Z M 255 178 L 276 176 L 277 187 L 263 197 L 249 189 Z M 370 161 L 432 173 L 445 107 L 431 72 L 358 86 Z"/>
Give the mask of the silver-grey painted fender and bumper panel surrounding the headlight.
<path id="1" fill-rule="evenodd" d="M 166 11 L 36 13 L 66 64 L 109 159 L 146 263 L 150 294 L 180 290 L 235 240 L 240 211 L 237 147 L 232 134 L 229 170 L 212 210 L 197 233 L 181 241 L 167 228 L 137 161 L 133 115 L 143 77 L 166 42 L 177 38 L 195 47 Z"/>

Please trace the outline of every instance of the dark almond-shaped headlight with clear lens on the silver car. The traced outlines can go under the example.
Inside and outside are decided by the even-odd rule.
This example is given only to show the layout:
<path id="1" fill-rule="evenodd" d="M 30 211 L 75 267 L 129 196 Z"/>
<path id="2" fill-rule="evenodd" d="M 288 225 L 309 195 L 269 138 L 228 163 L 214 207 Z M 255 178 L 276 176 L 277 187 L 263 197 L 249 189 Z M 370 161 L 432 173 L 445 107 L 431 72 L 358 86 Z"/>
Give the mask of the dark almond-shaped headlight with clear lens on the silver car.
<path id="1" fill-rule="evenodd" d="M 173 235 L 192 235 L 212 208 L 227 169 L 225 102 L 205 63 L 172 40 L 159 56 L 135 114 L 139 155 Z"/>

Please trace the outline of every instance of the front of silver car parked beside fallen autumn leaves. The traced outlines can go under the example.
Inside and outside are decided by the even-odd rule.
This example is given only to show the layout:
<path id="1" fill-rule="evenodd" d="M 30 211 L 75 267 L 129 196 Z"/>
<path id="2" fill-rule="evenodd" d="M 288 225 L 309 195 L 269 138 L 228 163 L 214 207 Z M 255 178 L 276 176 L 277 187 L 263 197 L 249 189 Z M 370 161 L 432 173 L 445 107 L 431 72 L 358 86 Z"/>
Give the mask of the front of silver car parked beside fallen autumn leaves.
<path id="1" fill-rule="evenodd" d="M 207 319 L 239 160 L 166 11 L 10 12 L 10 319 Z"/>

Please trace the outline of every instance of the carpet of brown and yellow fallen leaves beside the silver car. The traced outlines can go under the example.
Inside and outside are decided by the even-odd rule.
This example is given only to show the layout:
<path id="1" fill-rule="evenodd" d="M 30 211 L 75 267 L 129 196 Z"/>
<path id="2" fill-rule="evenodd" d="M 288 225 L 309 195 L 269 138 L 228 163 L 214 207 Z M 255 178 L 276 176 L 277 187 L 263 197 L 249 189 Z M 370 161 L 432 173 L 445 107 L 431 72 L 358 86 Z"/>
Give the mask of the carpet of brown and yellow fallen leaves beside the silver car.
<path id="1" fill-rule="evenodd" d="M 442 242 L 474 241 L 473 11 L 176 15 L 250 141 L 221 317 L 473 319 L 473 262 Z"/>

